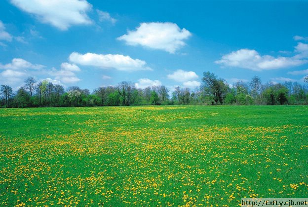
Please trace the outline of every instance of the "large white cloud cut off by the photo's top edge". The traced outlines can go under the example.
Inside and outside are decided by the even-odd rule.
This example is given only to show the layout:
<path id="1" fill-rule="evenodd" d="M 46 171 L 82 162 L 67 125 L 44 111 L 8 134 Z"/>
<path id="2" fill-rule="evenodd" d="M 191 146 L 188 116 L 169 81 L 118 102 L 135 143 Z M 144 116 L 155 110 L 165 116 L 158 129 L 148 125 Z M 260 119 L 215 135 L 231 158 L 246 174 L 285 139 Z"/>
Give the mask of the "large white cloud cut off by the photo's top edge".
<path id="1" fill-rule="evenodd" d="M 34 15 L 40 22 L 67 30 L 72 25 L 91 24 L 86 12 L 92 5 L 86 0 L 10 0 L 21 10 Z"/>

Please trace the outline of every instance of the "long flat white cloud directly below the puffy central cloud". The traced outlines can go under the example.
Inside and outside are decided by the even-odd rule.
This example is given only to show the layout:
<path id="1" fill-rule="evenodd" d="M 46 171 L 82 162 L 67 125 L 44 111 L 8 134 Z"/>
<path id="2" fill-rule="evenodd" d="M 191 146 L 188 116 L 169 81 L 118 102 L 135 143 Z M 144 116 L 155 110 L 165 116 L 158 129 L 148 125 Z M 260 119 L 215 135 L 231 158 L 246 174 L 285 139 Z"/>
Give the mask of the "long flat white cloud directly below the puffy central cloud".
<path id="1" fill-rule="evenodd" d="M 77 52 L 73 52 L 70 55 L 69 60 L 72 63 L 82 66 L 93 66 L 102 69 L 117 69 L 122 71 L 152 70 L 150 67 L 146 66 L 147 63 L 145 61 L 132 59 L 129 56 L 118 54 L 79 54 Z"/>

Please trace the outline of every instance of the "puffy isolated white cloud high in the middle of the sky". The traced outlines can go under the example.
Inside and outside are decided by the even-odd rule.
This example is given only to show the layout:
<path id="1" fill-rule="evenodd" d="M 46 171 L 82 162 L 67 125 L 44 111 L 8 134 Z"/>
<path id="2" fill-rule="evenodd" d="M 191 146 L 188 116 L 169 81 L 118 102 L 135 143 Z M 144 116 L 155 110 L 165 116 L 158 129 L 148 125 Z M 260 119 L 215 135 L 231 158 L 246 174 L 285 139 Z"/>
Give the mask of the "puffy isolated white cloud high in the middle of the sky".
<path id="1" fill-rule="evenodd" d="M 184 40 L 192 34 L 186 29 L 180 29 L 177 24 L 171 22 L 141 23 L 135 31 L 128 31 L 127 35 L 118 37 L 128 45 L 141 45 L 152 49 L 164 50 L 175 53 L 185 45 Z"/>

